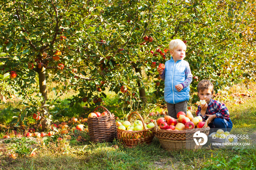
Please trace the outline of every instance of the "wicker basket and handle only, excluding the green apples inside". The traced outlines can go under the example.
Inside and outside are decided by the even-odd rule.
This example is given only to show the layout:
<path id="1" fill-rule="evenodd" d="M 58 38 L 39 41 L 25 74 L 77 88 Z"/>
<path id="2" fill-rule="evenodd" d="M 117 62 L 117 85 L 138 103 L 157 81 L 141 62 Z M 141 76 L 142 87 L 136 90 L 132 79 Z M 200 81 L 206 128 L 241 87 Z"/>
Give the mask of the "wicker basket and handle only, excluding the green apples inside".
<path id="1" fill-rule="evenodd" d="M 131 116 L 135 113 L 138 115 L 143 123 L 143 130 L 141 131 L 126 131 L 126 130 L 120 130 L 117 128 L 117 137 L 118 139 L 122 140 L 125 146 L 127 147 L 135 147 L 139 143 L 147 143 L 150 144 L 152 142 L 152 139 L 154 138 L 155 131 L 153 128 L 145 129 L 145 124 L 142 116 L 138 112 L 132 112 L 128 116 L 128 121 L 131 120 Z"/>

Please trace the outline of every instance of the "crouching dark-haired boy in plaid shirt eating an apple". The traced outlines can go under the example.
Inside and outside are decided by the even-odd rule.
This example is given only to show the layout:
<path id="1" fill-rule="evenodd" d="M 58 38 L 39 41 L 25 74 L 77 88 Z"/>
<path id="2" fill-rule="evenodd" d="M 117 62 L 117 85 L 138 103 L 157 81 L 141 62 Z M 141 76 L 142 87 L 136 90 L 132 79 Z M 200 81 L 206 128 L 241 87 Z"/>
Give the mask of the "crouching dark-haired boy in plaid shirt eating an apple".
<path id="1" fill-rule="evenodd" d="M 208 119 L 210 128 L 231 131 L 233 123 L 229 117 L 229 111 L 225 104 L 220 101 L 213 100 L 211 97 L 214 93 L 214 86 L 209 80 L 202 80 L 198 83 L 197 93 L 200 100 L 205 100 L 206 104 L 197 107 L 197 116 L 202 116 L 203 121 Z"/>

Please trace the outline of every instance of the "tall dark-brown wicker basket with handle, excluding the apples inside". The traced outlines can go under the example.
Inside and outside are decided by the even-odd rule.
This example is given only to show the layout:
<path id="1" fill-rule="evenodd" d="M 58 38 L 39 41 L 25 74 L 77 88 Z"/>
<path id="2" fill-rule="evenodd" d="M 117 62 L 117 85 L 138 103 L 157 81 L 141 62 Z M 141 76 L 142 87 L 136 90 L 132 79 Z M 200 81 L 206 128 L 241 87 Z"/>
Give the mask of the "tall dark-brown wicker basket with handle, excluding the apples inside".
<path id="1" fill-rule="evenodd" d="M 103 106 L 96 107 L 93 112 L 98 108 L 104 109 L 108 115 L 88 118 L 90 140 L 92 142 L 112 142 L 117 135 L 114 115 Z"/>

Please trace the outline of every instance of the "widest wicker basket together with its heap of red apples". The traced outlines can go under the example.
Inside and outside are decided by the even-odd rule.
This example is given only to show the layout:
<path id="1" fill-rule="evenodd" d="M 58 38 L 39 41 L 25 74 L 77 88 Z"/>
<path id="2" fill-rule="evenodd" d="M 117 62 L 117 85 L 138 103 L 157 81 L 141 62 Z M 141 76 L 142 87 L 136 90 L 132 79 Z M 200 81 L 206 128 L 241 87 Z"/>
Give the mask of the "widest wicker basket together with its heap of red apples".
<path id="1" fill-rule="evenodd" d="M 199 133 L 208 136 L 210 127 L 208 120 L 202 121 L 201 116 L 193 117 L 191 112 L 178 112 L 178 119 L 170 116 L 160 117 L 155 121 L 155 136 L 161 146 L 168 151 L 177 149 L 199 149 L 204 142 L 203 138 L 197 138 Z M 196 141 L 194 140 L 196 139 Z M 199 145 L 197 145 L 199 144 Z"/>

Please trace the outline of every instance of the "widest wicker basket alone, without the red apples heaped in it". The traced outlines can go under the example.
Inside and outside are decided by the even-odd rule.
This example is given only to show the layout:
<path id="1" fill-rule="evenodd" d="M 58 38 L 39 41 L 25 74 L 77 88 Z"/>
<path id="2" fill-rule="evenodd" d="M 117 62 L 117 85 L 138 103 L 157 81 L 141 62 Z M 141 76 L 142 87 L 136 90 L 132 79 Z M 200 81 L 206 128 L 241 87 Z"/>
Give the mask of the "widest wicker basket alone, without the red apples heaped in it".
<path id="1" fill-rule="evenodd" d="M 155 136 L 159 139 L 161 146 L 167 151 L 177 149 L 199 149 L 202 145 L 196 145 L 193 135 L 197 131 L 208 135 L 210 131 L 208 120 L 206 120 L 203 128 L 196 128 L 192 130 L 167 131 L 159 129 L 156 121 L 155 125 Z M 203 142 L 204 140 L 202 139 L 199 143 Z"/>

